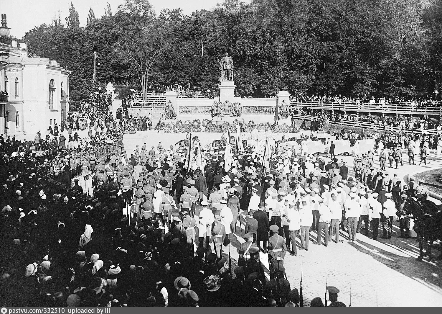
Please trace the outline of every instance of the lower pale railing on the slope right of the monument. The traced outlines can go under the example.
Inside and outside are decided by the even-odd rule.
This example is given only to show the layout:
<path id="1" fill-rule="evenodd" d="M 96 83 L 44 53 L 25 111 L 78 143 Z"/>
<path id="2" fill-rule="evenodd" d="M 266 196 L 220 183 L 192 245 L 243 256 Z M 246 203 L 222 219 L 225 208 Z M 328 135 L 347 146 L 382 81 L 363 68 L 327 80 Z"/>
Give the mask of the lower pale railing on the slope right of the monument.
<path id="1" fill-rule="evenodd" d="M 314 116 L 309 115 L 300 115 L 300 114 L 293 114 L 293 119 L 299 119 L 299 120 L 312 120 Z M 372 122 L 362 122 L 362 121 L 356 121 L 356 120 L 341 120 L 341 121 L 333 121 L 333 120 L 326 120 L 327 123 L 330 124 L 337 124 L 347 127 L 358 127 L 358 128 L 366 128 L 377 132 L 405 132 L 405 133 L 412 133 L 412 134 L 429 134 L 429 135 L 437 135 L 438 130 L 434 129 L 425 129 L 425 128 L 400 128 L 397 126 L 391 126 L 391 125 L 381 125 L 381 124 L 375 124 Z"/>

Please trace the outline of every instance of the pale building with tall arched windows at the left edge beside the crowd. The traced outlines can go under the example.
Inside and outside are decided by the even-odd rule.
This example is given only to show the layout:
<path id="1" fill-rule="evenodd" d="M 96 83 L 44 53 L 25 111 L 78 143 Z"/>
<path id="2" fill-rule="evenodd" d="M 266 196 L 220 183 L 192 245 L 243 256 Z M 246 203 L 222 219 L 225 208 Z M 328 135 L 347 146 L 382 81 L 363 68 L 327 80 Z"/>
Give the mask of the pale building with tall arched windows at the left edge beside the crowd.
<path id="1" fill-rule="evenodd" d="M 31 140 L 65 120 L 70 71 L 56 61 L 30 56 L 25 43 L 16 46 L 0 43 L 0 133 L 25 134 Z"/>

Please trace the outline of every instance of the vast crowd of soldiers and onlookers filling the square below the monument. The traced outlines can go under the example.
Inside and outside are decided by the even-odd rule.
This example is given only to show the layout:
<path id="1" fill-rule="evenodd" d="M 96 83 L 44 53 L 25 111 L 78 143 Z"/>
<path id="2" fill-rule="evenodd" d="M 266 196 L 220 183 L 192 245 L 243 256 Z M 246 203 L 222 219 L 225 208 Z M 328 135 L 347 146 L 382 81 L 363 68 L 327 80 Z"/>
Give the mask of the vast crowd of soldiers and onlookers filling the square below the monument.
<path id="1" fill-rule="evenodd" d="M 226 154 L 224 136 L 220 146 L 195 150 L 199 158 L 187 150 L 188 141 L 199 145 L 190 136 L 170 147 L 140 143 L 130 152 L 113 146 L 98 153 L 91 148 L 152 122 L 89 109 L 48 129 L 45 139 L 63 163 L 57 175 L 29 148 L 38 151 L 40 134 L 24 154 L 15 153 L 15 139 L 0 138 L 3 306 L 303 306 L 301 291 L 286 279 L 287 253 L 308 251 L 311 232 L 314 244 L 325 246 L 343 241 L 340 230 L 357 241 L 358 233 L 377 240 L 381 228 L 388 241 L 396 215 L 407 238 L 403 214 L 429 194 L 421 180 L 405 184 L 387 170 L 403 164 L 403 149 L 408 163 L 420 154 L 426 164 L 436 137 L 425 134 L 342 129 L 333 134 L 330 158 L 278 147 L 270 157 L 237 147 Z M 320 128 L 324 119 L 317 115 L 312 125 Z M 66 130 L 77 147 L 65 143 Z M 77 132 L 84 130 L 82 139 Z M 334 140 L 366 138 L 376 145 L 353 165 L 336 158 Z M 438 139 L 439 152 L 441 145 Z M 83 155 L 73 160 L 77 152 Z M 80 182 L 91 182 L 91 195 Z M 227 252 L 243 227 L 235 261 Z M 339 289 L 327 290 L 328 301 L 318 296 L 310 306 L 345 306 Z"/>

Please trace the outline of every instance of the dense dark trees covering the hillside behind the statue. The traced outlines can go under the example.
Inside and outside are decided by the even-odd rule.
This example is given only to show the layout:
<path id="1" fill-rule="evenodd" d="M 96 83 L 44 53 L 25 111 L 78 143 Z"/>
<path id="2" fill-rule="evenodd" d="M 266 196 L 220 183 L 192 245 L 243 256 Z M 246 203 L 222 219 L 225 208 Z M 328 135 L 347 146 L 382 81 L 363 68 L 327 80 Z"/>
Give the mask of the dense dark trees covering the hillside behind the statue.
<path id="1" fill-rule="evenodd" d="M 85 27 L 69 12 L 69 27 L 43 24 L 23 40 L 72 71 L 73 101 L 91 84 L 94 50 L 100 81 L 110 75 L 144 92 L 175 83 L 217 90 L 226 51 L 241 96 L 426 96 L 442 81 L 442 0 L 225 0 L 190 16 L 126 0 Z"/>

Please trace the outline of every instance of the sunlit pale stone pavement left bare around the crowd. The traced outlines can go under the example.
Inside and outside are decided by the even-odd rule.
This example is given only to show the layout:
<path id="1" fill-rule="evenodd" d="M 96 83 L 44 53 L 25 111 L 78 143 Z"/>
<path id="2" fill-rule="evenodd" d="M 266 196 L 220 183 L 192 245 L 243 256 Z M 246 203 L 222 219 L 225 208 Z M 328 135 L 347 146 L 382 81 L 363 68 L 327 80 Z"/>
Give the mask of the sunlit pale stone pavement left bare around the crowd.
<path id="1" fill-rule="evenodd" d="M 156 133 L 157 135 L 160 135 Z M 175 142 L 184 137 L 183 134 L 168 135 L 163 143 Z M 171 137 L 173 137 L 171 141 Z M 216 138 L 215 138 L 216 137 Z M 221 137 L 221 134 L 219 134 Z M 219 138 L 214 136 L 213 140 Z M 174 142 L 174 143 L 175 143 Z M 147 143 L 156 145 L 158 138 Z M 337 156 L 349 166 L 349 175 L 353 176 L 353 156 Z M 375 156 L 377 159 L 377 156 Z M 427 166 L 408 165 L 404 151 L 404 166 L 399 169 L 387 168 L 390 174 L 397 173 L 400 178 L 416 171 L 425 171 L 434 167 L 442 167 L 442 160 L 434 154 L 429 155 Z M 416 156 L 419 163 L 420 158 Z M 379 169 L 376 161 L 375 167 Z M 197 206 L 197 214 L 199 206 Z M 230 255 L 232 266 L 236 267 L 238 260 L 237 248 L 244 242 L 245 214 L 240 224 L 237 223 L 236 235 L 231 235 Z M 415 238 L 402 239 L 399 237 L 399 223 L 394 219 L 393 235 L 390 240 L 371 239 L 358 234 L 357 241 L 348 241 L 347 233 L 340 232 L 343 242 L 330 241 L 328 246 L 316 244 L 316 231 L 310 233 L 309 251 L 301 250 L 298 236 L 298 256 L 286 255 L 284 265 L 287 279 L 291 288 L 299 289 L 301 265 L 303 268 L 303 297 L 304 305 L 310 300 L 320 297 L 324 300 L 326 282 L 337 287 L 340 292 L 338 300 L 347 306 L 442 306 L 442 262 L 440 252 L 434 250 L 434 261 L 424 258 L 416 261 L 419 255 L 419 245 Z M 380 225 L 381 235 L 381 225 Z M 398 234 L 399 233 L 399 234 Z M 223 248 L 224 256 L 229 254 L 229 247 Z M 268 273 L 267 256 L 261 254 L 261 262 Z M 268 275 L 268 274 L 267 274 Z"/>

